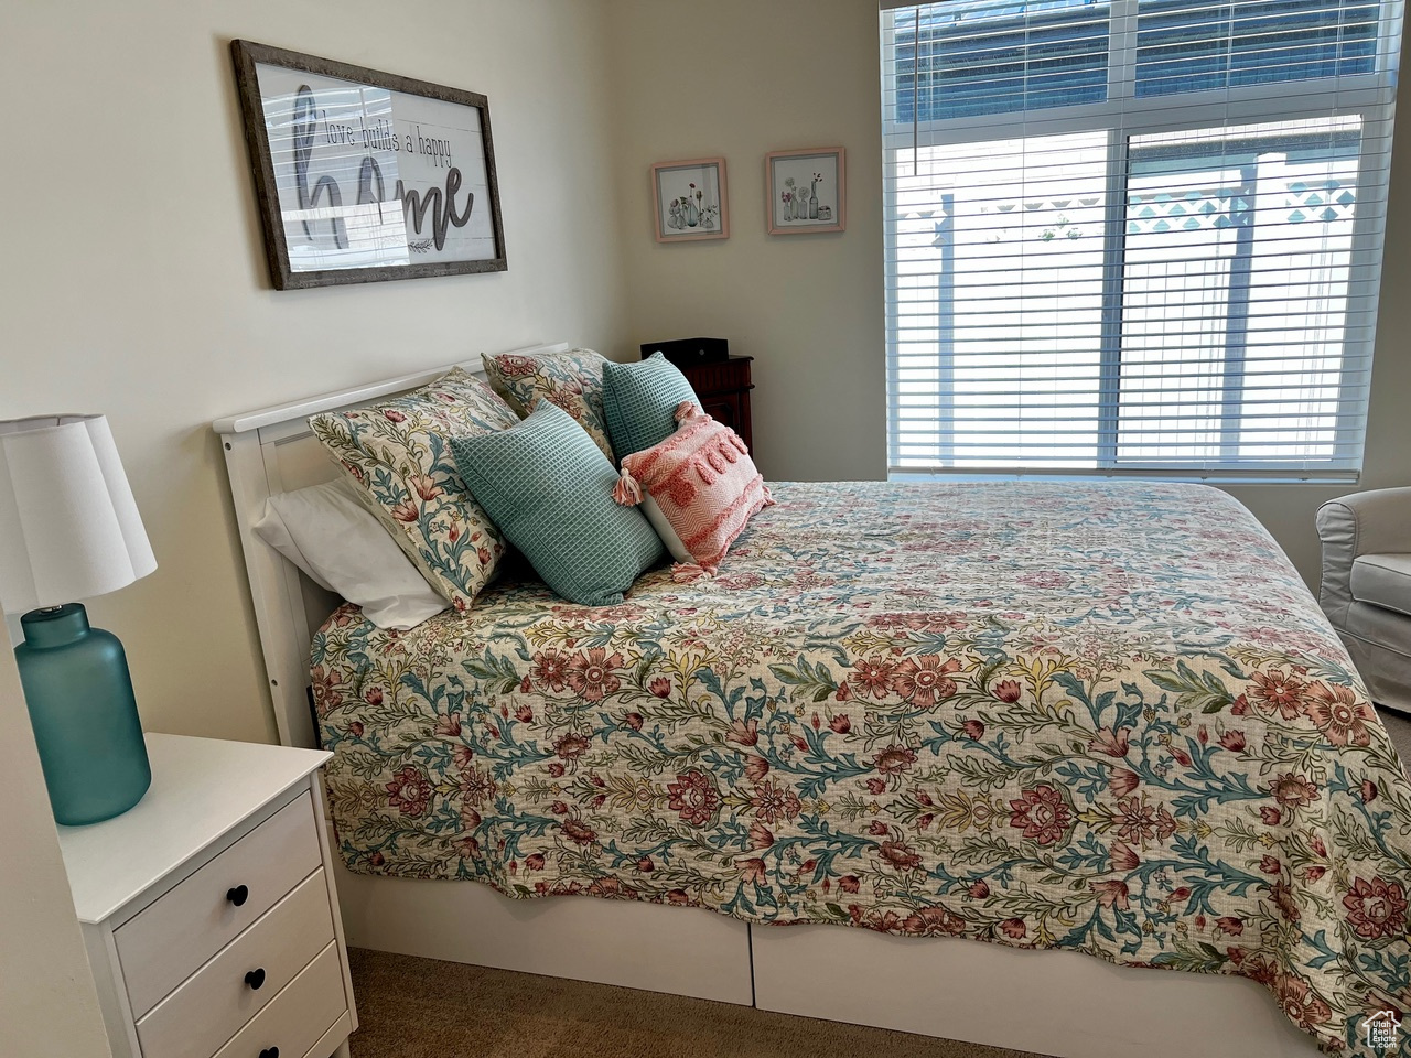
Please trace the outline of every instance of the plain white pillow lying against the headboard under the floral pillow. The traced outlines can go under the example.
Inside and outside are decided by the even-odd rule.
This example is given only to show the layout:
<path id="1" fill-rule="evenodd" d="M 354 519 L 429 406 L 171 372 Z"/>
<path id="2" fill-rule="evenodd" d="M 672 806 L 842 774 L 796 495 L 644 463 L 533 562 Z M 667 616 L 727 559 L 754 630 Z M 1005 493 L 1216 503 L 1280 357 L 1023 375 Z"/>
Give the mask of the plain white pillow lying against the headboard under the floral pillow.
<path id="1" fill-rule="evenodd" d="M 270 497 L 254 530 L 315 584 L 363 607 L 378 628 L 416 628 L 450 605 L 346 478 Z"/>

